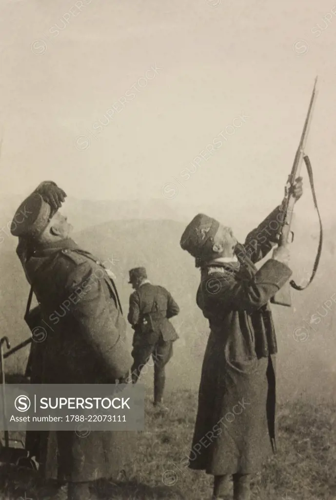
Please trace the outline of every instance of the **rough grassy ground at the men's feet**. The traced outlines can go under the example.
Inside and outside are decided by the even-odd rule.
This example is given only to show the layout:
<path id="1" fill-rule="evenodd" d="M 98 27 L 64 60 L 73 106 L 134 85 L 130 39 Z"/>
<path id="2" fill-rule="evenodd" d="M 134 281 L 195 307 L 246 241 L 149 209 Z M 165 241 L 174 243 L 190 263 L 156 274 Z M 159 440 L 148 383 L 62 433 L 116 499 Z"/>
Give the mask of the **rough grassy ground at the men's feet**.
<path id="1" fill-rule="evenodd" d="M 207 500 L 212 477 L 181 465 L 190 446 L 197 394 L 167 394 L 167 414 L 146 400 L 145 429 L 126 482 L 110 484 L 110 500 Z M 297 401 L 278 408 L 278 453 L 253 483 L 253 499 L 336 500 L 336 405 Z M 42 499 L 34 472 L 2 468 L 1 500 Z M 25 494 L 25 496 L 24 496 Z"/>

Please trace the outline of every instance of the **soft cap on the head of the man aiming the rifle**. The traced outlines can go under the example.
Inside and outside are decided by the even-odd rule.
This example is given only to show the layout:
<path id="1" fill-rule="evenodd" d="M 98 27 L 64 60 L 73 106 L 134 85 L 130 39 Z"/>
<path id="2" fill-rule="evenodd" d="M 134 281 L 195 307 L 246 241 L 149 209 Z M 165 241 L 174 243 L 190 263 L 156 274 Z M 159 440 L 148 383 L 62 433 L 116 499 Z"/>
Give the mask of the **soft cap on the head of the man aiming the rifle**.
<path id="1" fill-rule="evenodd" d="M 180 245 L 195 258 L 213 253 L 214 237 L 220 223 L 218 220 L 205 215 L 197 214 L 185 228 Z"/>

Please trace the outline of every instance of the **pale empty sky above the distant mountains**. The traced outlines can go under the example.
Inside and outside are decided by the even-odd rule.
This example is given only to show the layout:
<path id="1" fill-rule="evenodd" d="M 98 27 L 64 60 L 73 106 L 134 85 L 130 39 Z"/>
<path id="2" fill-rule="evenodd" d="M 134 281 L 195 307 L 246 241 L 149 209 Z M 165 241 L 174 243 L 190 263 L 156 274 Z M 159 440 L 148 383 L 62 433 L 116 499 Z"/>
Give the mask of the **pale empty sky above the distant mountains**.
<path id="1" fill-rule="evenodd" d="M 176 207 L 267 212 L 283 196 L 318 74 L 306 151 L 333 218 L 333 10 L 316 0 L 1 0 L 0 195 L 44 179 L 92 199 L 162 198 L 166 186 Z M 221 131 L 222 146 L 183 180 Z"/>

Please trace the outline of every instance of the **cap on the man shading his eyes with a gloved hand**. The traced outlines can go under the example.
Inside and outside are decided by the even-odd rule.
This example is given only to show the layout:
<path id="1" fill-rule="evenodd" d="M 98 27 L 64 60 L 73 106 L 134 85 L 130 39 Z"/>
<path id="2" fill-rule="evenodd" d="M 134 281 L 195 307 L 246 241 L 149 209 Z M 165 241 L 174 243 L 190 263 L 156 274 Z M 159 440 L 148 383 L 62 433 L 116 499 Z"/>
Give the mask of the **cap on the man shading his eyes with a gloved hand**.
<path id="1" fill-rule="evenodd" d="M 32 192 L 17 208 L 10 232 L 13 236 L 36 237 L 44 231 L 56 211 L 38 192 Z"/>

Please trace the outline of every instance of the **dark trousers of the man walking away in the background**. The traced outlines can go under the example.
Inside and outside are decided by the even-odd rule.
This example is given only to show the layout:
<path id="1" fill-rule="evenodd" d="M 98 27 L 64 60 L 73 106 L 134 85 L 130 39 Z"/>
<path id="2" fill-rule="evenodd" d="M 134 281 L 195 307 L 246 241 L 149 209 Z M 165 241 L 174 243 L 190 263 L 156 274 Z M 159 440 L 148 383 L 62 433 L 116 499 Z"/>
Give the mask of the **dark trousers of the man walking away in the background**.
<path id="1" fill-rule="evenodd" d="M 141 341 L 133 343 L 132 356 L 132 382 L 136 383 L 142 368 L 148 363 L 150 356 L 154 362 L 154 403 L 162 401 L 166 374 L 165 366 L 173 355 L 173 342 L 163 340 L 160 333 L 159 339 L 154 344 L 143 344 Z"/>

